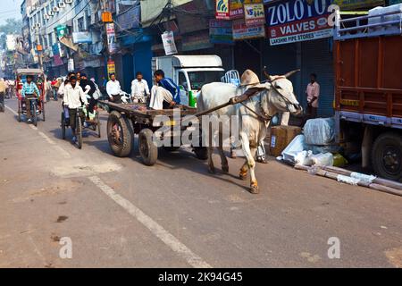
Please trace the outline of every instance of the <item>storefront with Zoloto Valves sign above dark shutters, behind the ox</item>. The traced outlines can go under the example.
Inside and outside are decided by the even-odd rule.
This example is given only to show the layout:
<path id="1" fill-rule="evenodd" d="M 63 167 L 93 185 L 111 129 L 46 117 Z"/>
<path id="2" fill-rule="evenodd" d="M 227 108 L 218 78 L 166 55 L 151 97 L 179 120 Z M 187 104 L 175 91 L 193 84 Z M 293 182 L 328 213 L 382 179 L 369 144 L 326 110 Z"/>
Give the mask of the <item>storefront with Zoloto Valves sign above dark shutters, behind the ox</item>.
<path id="1" fill-rule="evenodd" d="M 271 74 L 301 69 L 291 80 L 300 103 L 306 106 L 310 74 L 321 86 L 318 115 L 333 115 L 334 74 L 332 28 L 328 24 L 331 0 L 265 1 L 264 65 Z"/>

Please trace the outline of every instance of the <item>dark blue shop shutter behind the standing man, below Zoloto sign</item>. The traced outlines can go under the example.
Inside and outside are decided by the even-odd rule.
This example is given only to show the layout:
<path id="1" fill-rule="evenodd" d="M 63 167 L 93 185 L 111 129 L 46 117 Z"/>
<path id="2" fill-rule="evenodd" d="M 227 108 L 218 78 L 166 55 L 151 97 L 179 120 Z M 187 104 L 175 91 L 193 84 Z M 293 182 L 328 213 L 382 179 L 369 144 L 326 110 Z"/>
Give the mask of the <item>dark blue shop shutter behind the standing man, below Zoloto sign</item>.
<path id="1" fill-rule="evenodd" d="M 320 117 L 331 117 L 334 114 L 334 71 L 329 38 L 302 42 L 303 88 L 306 88 L 309 83 L 312 72 L 317 74 L 317 81 L 321 86 L 318 115 Z M 303 94 L 305 94 L 305 90 L 302 90 Z M 306 104 L 306 101 L 303 103 Z"/>

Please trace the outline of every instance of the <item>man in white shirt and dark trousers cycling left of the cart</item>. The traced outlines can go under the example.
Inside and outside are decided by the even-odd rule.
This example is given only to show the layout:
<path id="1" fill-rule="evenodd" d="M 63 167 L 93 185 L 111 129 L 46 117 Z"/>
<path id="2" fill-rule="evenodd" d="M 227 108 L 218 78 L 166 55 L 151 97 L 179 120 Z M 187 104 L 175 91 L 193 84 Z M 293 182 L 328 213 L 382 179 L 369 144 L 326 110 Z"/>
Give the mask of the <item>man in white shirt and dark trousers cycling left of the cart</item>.
<path id="1" fill-rule="evenodd" d="M 75 143 L 77 141 L 76 136 L 76 119 L 77 119 L 77 108 L 82 105 L 88 106 L 87 95 L 84 93 L 84 90 L 77 83 L 77 78 L 72 76 L 70 78 L 70 83 L 64 86 L 64 97 L 63 97 L 64 106 L 69 108 L 70 115 L 70 127 L 72 130 L 72 142 Z"/>

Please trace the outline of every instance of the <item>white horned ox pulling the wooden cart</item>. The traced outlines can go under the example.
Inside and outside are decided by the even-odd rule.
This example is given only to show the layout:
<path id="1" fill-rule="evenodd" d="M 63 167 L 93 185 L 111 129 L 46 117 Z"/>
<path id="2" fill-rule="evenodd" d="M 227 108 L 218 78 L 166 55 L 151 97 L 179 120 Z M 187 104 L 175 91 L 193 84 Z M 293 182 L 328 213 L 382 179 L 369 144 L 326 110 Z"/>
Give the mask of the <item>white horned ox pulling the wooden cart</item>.
<path id="1" fill-rule="evenodd" d="M 256 150 L 266 138 L 266 131 L 269 125 L 269 121 L 261 120 L 256 114 L 262 114 L 269 118 L 283 112 L 290 112 L 290 114 L 302 113 L 303 109 L 297 102 L 293 85 L 288 80 L 289 76 L 295 72 L 297 71 L 290 71 L 284 76 L 268 76 L 268 82 L 259 84 L 257 87 L 237 88 L 232 84 L 222 82 L 206 84 L 197 97 L 197 109 L 198 112 L 202 112 L 227 103 L 231 97 L 240 96 L 247 89 L 255 88 L 257 90 L 258 93 L 254 97 L 243 103 L 249 109 L 240 104 L 229 105 L 211 114 L 216 116 L 227 115 L 225 116 L 226 118 L 230 118 L 232 115 L 239 116 L 239 140 L 246 156 L 246 163 L 242 166 L 239 177 L 241 180 L 246 180 L 247 172 L 248 170 L 250 171 L 250 192 L 253 194 L 259 193 L 258 183 L 255 178 Z M 255 111 L 256 114 L 251 110 Z M 222 130 L 218 131 L 216 135 L 222 138 Z M 223 152 L 222 140 L 220 140 L 217 148 L 222 160 L 222 171 L 229 172 L 229 164 Z M 214 147 L 209 146 L 208 167 L 209 172 L 214 173 L 213 153 Z"/>

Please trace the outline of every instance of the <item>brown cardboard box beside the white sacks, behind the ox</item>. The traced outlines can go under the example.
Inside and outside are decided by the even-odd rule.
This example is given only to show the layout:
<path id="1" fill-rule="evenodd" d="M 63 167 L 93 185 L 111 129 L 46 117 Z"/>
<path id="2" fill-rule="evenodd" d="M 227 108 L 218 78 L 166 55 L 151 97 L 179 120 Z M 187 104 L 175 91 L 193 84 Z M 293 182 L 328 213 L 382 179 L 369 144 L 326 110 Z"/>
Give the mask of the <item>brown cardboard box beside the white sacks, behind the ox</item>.
<path id="1" fill-rule="evenodd" d="M 301 133 L 297 126 L 273 126 L 270 136 L 270 155 L 281 156 L 282 151 Z"/>

